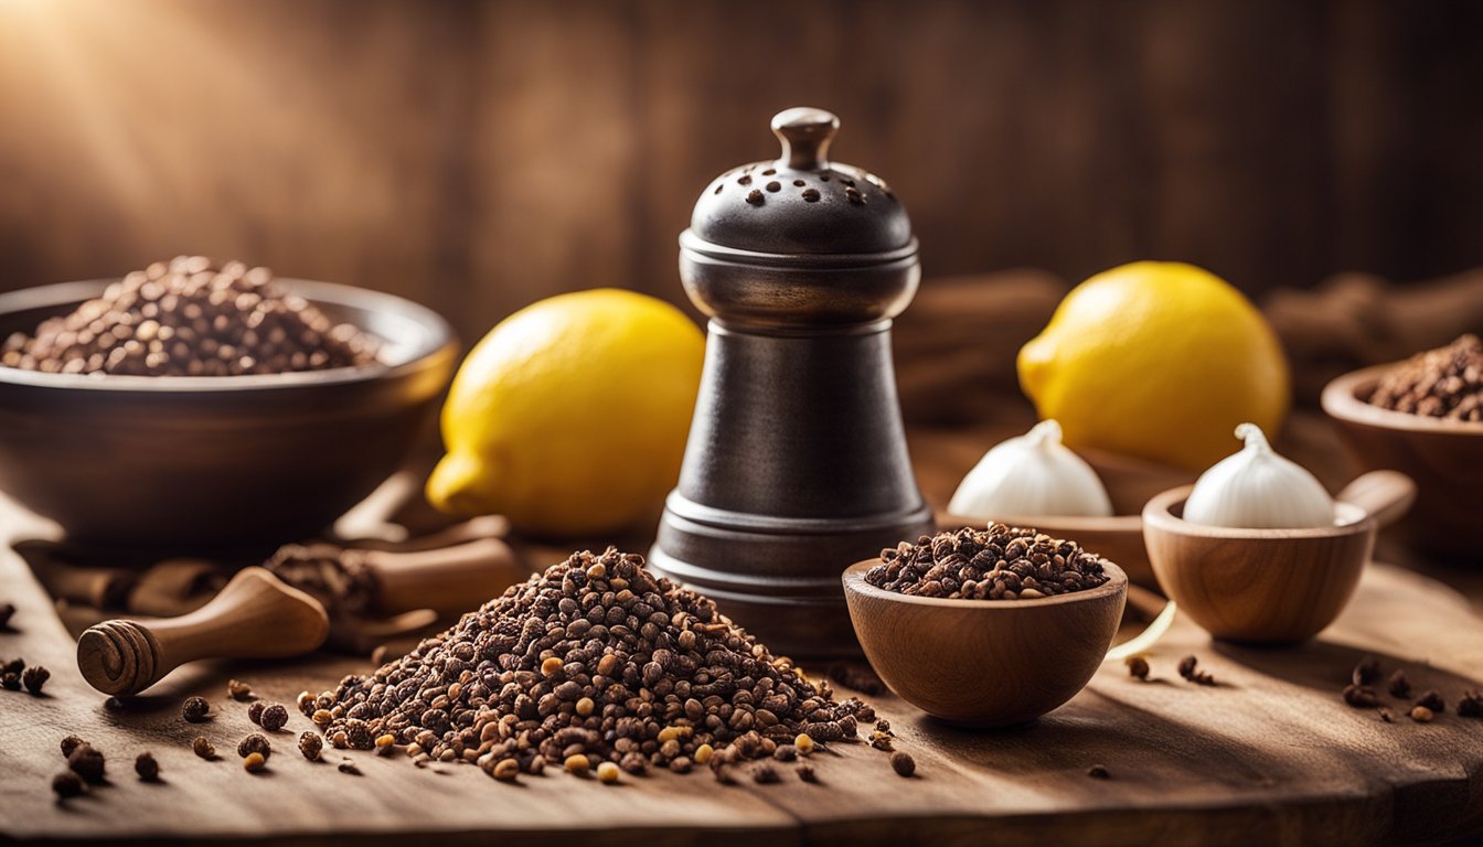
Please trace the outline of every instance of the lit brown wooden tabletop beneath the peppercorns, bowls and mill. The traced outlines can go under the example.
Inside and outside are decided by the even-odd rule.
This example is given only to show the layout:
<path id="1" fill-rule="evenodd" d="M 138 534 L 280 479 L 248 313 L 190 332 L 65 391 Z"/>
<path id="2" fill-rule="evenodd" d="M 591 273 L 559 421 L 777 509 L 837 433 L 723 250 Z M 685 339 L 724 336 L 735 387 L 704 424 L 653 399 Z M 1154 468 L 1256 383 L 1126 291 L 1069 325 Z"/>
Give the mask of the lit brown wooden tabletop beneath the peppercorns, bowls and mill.
<path id="1" fill-rule="evenodd" d="M 962 438 L 914 435 L 933 500 L 965 470 L 961 457 L 979 449 Z M 46 525 L 0 500 L 0 533 L 16 540 L 44 534 Z M 366 660 L 203 663 L 111 711 L 77 673 L 73 638 L 6 546 L 0 601 L 18 613 L 13 632 L 0 632 L 0 656 L 44 665 L 52 679 L 44 697 L 0 691 L 0 840 L 409 844 L 436 835 L 445 844 L 690 844 L 703 834 L 719 844 L 1470 843 L 1483 838 L 1483 719 L 1461 718 L 1452 705 L 1483 679 L 1483 619 L 1470 608 L 1479 596 L 1376 562 L 1344 616 L 1299 648 L 1213 644 L 1179 617 L 1149 651 L 1151 681 L 1103 665 L 1071 703 L 1008 731 L 954 730 L 890 694 L 869 697 L 891 721 L 897 749 L 915 757 L 912 779 L 854 743 L 816 754 L 819 785 L 786 765 L 782 785 L 722 786 L 700 771 L 624 777 L 617 786 L 561 773 L 506 785 L 473 767 L 418 770 L 405 757 L 346 754 L 362 776 L 338 773 L 340 751 L 326 749 L 329 764 L 308 762 L 294 739 L 311 725 L 292 708 L 292 734 L 274 736 L 267 771 L 243 771 L 234 748 L 255 727 L 246 705 L 227 699 L 227 678 L 292 703 L 300 690 L 369 670 Z M 1218 687 L 1178 676 L 1178 660 L 1191 653 Z M 1345 706 L 1339 691 L 1366 654 L 1387 672 L 1404 668 L 1418 691 L 1437 688 L 1449 709 L 1430 724 L 1387 724 L 1375 709 Z M 208 697 L 217 716 L 181 721 L 188 694 Z M 108 757 L 110 785 L 58 802 L 49 783 L 64 767 L 58 742 L 71 733 Z M 211 737 L 222 758 L 196 758 L 196 734 Z M 160 761 L 163 783 L 135 777 L 132 761 L 144 751 Z M 1093 764 L 1111 779 L 1090 777 Z"/>

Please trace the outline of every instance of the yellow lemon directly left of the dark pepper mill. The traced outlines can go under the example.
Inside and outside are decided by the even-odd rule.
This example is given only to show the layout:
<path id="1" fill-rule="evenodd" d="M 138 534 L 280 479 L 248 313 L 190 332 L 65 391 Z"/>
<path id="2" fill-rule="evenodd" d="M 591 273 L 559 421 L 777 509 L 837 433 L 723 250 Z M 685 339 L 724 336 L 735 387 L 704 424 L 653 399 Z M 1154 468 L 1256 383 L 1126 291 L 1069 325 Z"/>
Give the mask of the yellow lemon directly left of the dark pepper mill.
<path id="1" fill-rule="evenodd" d="M 429 501 L 584 535 L 657 518 L 679 478 L 704 337 L 673 306 L 595 289 L 535 303 L 458 368 Z"/>

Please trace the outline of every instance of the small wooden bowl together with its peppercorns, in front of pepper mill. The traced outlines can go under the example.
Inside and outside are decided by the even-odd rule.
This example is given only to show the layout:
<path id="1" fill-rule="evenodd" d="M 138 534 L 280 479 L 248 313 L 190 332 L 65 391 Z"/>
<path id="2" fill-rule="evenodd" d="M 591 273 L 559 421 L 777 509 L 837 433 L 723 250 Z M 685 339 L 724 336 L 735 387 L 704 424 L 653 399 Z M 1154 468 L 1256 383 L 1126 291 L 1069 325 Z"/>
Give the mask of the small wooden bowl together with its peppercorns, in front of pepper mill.
<path id="1" fill-rule="evenodd" d="M 885 558 L 859 562 L 844 573 L 856 636 L 896 694 L 952 724 L 1013 727 L 1056 709 L 1086 687 L 1123 619 L 1127 574 L 1121 568 L 1080 549 L 1068 556 L 1065 541 L 1004 525 L 942 533 L 931 541 L 885 550 L 897 561 L 915 555 L 925 565 L 915 567 L 915 573 L 928 579 L 906 586 L 916 593 L 903 593 L 903 583 L 912 577 L 897 571 L 893 580 L 894 562 Z M 974 556 L 985 550 L 974 565 Z M 1068 590 L 1048 589 L 1050 580 L 1005 579 L 1026 570 L 1016 565 L 1034 568 L 1029 559 L 1041 553 L 1081 561 L 1094 577 L 1078 573 L 1081 587 Z M 989 558 L 1013 570 L 998 570 Z M 965 573 L 970 579 L 948 586 L 952 596 L 922 593 L 925 583 L 934 581 L 931 577 L 964 567 L 971 568 Z"/>

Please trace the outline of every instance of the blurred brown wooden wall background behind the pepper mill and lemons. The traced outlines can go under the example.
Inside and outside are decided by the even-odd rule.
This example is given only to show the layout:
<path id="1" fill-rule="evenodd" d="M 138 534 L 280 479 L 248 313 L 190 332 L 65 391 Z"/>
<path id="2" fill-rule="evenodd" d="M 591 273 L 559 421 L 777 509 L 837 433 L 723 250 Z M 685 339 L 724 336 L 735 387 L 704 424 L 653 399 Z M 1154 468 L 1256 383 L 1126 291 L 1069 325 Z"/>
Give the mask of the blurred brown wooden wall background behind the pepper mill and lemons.
<path id="1" fill-rule="evenodd" d="M 178 252 L 478 338 L 672 300 L 706 181 L 844 120 L 928 276 L 1134 258 L 1259 294 L 1479 263 L 1483 3 L 0 0 L 0 289 Z"/>

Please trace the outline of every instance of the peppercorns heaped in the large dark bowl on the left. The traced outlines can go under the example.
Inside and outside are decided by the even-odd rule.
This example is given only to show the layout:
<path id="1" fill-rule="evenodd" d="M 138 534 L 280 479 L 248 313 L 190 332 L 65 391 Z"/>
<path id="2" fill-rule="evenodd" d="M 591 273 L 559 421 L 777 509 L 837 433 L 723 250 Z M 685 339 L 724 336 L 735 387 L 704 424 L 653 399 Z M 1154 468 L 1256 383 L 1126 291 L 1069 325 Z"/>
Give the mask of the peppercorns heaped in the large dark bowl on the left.
<path id="1" fill-rule="evenodd" d="M 231 377 L 366 365 L 377 341 L 288 294 L 265 267 L 176 257 L 133 271 L 34 335 L 0 363 L 52 374 Z"/>

